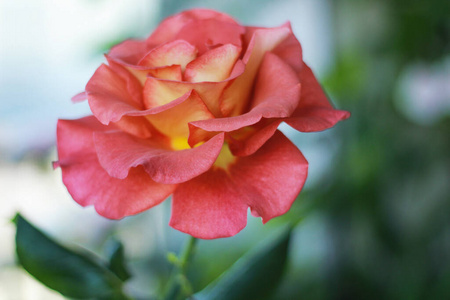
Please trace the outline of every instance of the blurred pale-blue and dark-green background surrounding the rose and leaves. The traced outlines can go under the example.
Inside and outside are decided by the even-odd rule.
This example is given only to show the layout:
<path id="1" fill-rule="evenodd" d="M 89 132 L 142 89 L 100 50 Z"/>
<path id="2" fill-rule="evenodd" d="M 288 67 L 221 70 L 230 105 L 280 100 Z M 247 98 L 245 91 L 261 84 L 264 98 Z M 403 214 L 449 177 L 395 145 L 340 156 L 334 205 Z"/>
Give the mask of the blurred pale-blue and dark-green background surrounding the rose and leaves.
<path id="1" fill-rule="evenodd" d="M 104 255 L 125 245 L 127 289 L 167 279 L 170 202 L 120 222 L 75 204 L 52 170 L 58 118 L 89 114 L 83 91 L 102 54 L 166 16 L 221 10 L 242 24 L 290 20 L 305 61 L 352 117 L 314 134 L 282 130 L 310 163 L 291 211 L 237 236 L 200 241 L 200 290 L 282 224 L 300 221 L 270 299 L 450 299 L 450 2 L 446 0 L 2 0 L 0 2 L 0 299 L 62 299 L 16 267 L 20 211 L 65 245 Z M 219 257 L 220 259 L 217 259 Z"/>

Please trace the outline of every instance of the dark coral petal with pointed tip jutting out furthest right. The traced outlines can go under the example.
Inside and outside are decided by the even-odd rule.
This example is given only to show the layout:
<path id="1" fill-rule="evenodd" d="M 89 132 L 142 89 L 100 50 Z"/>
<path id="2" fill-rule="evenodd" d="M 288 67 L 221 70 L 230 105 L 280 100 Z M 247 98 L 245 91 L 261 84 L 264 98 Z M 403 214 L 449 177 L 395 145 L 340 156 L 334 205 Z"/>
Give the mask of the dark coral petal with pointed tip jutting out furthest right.
<path id="1" fill-rule="evenodd" d="M 299 77 L 302 84 L 301 99 L 292 117 L 285 120 L 287 124 L 303 132 L 321 131 L 350 117 L 349 112 L 333 108 L 306 64 Z"/>

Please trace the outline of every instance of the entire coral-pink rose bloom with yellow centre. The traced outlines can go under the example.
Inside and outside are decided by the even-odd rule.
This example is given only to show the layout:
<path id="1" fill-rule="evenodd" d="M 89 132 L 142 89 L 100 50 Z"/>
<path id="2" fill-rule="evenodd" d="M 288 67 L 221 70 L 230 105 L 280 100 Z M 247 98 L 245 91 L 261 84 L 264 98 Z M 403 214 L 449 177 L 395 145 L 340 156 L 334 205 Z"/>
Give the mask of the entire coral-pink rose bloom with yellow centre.
<path id="1" fill-rule="evenodd" d="M 242 26 L 194 9 L 106 55 L 74 101 L 93 116 L 59 120 L 62 177 L 73 199 L 110 219 L 172 195 L 170 226 L 229 237 L 286 213 L 308 162 L 277 127 L 321 131 L 349 117 L 329 103 L 289 23 Z"/>

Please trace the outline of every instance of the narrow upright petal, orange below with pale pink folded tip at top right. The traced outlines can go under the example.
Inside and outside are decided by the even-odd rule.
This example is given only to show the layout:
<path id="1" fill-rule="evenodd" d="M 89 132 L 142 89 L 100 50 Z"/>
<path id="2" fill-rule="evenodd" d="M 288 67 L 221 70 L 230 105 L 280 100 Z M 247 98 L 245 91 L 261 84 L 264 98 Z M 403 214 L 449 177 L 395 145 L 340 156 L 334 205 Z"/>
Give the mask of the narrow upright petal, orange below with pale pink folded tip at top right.
<path id="1" fill-rule="evenodd" d="M 268 51 L 275 49 L 290 33 L 285 26 L 277 28 L 259 29 L 253 34 L 243 62 L 246 63 L 245 72 L 224 91 L 221 98 L 220 109 L 224 116 L 240 115 L 247 107 L 253 82 L 257 71 Z"/>

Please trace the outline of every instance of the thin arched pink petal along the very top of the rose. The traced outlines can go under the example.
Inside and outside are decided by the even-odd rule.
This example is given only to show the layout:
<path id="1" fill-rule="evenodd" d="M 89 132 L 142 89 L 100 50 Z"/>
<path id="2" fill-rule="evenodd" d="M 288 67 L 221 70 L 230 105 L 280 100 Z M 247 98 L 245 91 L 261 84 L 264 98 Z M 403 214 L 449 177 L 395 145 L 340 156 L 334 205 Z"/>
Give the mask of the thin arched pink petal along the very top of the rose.
<path id="1" fill-rule="evenodd" d="M 176 36 L 186 25 L 196 20 L 215 19 L 220 22 L 236 25 L 230 16 L 209 9 L 193 9 L 168 17 L 156 28 L 147 39 L 150 45 L 163 44 L 176 39 Z"/>

